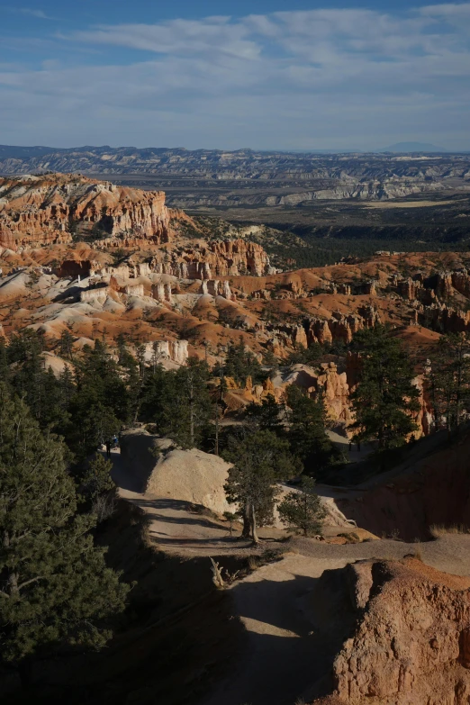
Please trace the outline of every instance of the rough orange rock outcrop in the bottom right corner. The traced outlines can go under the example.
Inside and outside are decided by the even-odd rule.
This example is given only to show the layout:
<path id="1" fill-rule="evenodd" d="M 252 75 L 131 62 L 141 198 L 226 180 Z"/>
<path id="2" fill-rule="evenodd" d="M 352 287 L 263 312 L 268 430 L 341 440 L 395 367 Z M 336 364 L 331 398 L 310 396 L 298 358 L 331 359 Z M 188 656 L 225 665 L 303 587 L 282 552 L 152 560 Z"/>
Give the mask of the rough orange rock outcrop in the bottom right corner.
<path id="1" fill-rule="evenodd" d="M 316 593 L 337 590 L 334 573 L 322 575 Z M 348 588 L 338 607 L 355 613 L 358 624 L 334 662 L 334 691 L 319 705 L 467 705 L 470 579 L 412 558 L 340 573 Z"/>

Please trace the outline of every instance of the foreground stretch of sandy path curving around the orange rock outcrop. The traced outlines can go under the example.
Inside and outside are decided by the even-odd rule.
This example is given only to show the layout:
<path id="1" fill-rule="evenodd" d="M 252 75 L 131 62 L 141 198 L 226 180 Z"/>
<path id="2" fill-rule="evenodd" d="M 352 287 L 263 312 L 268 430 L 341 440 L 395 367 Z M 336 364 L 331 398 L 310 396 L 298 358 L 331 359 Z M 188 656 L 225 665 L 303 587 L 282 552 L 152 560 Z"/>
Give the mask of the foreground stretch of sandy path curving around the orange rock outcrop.
<path id="1" fill-rule="evenodd" d="M 294 539 L 301 555 L 287 555 L 231 588 L 249 646 L 240 668 L 202 705 L 294 705 L 311 700 L 312 686 L 330 669 L 338 644 L 310 633 L 307 597 L 324 570 L 366 558 L 399 560 L 415 553 L 416 544 L 371 541 L 331 546 Z M 457 575 L 470 575 L 470 537 L 447 536 L 420 544 L 423 562 Z M 308 608 L 308 610 L 307 610 Z"/>

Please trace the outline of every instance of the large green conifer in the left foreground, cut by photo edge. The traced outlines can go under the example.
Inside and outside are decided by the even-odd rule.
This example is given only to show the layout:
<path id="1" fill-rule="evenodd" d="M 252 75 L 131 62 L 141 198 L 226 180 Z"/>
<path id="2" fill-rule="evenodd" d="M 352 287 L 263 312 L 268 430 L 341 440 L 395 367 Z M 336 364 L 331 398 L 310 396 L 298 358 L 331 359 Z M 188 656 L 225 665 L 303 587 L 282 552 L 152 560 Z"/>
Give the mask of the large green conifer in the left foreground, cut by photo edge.
<path id="1" fill-rule="evenodd" d="M 0 385 L 0 645 L 13 664 L 57 646 L 100 647 L 128 586 L 77 515 L 65 447 Z"/>

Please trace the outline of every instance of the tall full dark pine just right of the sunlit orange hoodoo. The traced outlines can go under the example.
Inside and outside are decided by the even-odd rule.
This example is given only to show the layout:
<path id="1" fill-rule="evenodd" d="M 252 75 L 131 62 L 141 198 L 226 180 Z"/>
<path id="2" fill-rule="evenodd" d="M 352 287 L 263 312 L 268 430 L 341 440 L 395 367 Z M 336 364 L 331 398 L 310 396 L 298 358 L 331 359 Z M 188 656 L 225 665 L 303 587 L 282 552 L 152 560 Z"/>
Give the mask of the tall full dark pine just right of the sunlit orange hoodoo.
<path id="1" fill-rule="evenodd" d="M 362 360 L 359 383 L 351 397 L 354 438 L 377 439 L 379 448 L 400 446 L 417 429 L 411 414 L 420 409 L 411 358 L 384 326 L 361 331 L 354 342 Z"/>

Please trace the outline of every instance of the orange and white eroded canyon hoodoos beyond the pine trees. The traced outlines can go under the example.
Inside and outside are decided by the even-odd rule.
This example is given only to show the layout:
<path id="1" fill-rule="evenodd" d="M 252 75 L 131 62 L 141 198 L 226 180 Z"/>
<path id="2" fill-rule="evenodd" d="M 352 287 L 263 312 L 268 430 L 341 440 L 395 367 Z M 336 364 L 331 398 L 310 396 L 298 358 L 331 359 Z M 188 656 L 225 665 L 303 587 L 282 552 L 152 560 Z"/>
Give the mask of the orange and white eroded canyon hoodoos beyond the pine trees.
<path id="1" fill-rule="evenodd" d="M 339 346 L 336 358 L 297 377 L 313 395 L 323 390 L 330 422 L 344 431 L 357 360 L 341 346 L 358 330 L 389 323 L 411 350 L 433 348 L 441 332 L 470 330 L 465 254 L 378 250 L 363 261 L 281 271 L 249 230 L 207 237 L 197 219 L 167 209 L 162 193 L 73 175 L 8 178 L 0 189 L 6 335 L 30 326 L 53 341 L 68 327 L 80 348 L 97 334 L 113 344 L 131 326 L 149 359 L 172 364 L 188 356 L 213 363 L 238 339 L 260 360 L 267 352 L 282 361 L 296 349 Z M 107 230 L 96 233 L 100 223 Z M 425 358 L 418 357 L 417 422 L 426 435 L 432 412 L 422 393 Z M 281 400 L 287 383 L 276 384 L 232 388 L 227 409 L 240 411 L 267 393 Z"/>

